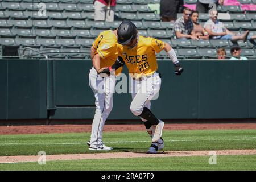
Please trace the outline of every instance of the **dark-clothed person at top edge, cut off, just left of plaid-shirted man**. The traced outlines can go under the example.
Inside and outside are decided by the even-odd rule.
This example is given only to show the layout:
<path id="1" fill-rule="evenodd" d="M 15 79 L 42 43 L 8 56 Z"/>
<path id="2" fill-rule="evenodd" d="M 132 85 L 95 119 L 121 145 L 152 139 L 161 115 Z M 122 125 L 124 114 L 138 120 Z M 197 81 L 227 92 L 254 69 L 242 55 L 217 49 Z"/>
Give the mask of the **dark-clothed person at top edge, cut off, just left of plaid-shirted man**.
<path id="1" fill-rule="evenodd" d="M 161 0 L 160 1 L 160 17 L 162 22 L 175 22 L 177 13 L 183 10 L 183 0 Z"/>

